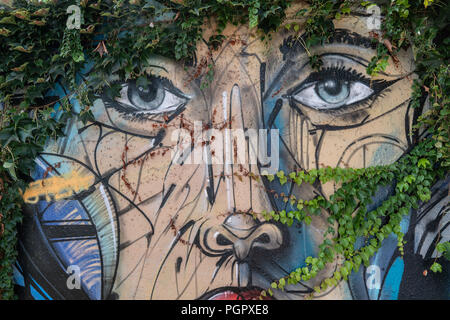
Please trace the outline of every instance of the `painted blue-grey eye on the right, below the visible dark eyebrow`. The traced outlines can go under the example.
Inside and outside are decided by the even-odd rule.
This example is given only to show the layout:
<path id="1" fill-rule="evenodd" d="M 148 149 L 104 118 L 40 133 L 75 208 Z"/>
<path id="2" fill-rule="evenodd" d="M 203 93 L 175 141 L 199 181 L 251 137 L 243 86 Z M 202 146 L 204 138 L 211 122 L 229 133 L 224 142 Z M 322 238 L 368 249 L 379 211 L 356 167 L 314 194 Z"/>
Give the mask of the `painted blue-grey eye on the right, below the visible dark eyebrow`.
<path id="1" fill-rule="evenodd" d="M 374 90 L 359 81 L 330 78 L 309 82 L 292 98 L 317 110 L 336 109 L 370 97 Z"/>

